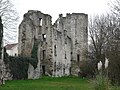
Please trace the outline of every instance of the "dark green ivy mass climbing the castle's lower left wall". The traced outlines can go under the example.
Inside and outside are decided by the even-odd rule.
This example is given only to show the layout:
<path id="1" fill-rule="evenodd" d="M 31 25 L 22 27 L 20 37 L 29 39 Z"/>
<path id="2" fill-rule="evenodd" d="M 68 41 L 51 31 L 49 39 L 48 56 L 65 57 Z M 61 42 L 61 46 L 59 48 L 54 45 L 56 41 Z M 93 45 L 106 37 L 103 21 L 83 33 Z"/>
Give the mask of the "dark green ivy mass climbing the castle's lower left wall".
<path id="1" fill-rule="evenodd" d="M 6 49 L 4 49 L 4 61 L 5 64 L 9 64 L 9 68 L 11 70 L 11 74 L 13 75 L 13 79 L 27 79 L 28 77 L 28 68 L 29 64 L 31 64 L 34 69 L 37 67 L 38 58 L 38 41 L 35 40 L 33 49 L 31 52 L 31 57 L 24 56 L 8 56 L 6 53 Z"/>

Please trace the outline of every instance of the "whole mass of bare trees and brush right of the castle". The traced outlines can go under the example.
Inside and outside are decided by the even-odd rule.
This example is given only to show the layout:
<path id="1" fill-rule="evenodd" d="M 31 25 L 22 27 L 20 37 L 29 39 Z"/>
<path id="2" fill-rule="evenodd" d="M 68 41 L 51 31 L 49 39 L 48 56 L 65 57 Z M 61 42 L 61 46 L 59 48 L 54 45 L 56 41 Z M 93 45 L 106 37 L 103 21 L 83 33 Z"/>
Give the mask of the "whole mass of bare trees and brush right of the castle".
<path id="1" fill-rule="evenodd" d="M 110 61 L 109 78 L 112 84 L 120 84 L 120 20 L 115 15 L 96 16 L 90 22 L 91 46 L 96 61 L 102 61 L 105 57 Z M 104 67 L 103 74 L 104 72 Z"/>

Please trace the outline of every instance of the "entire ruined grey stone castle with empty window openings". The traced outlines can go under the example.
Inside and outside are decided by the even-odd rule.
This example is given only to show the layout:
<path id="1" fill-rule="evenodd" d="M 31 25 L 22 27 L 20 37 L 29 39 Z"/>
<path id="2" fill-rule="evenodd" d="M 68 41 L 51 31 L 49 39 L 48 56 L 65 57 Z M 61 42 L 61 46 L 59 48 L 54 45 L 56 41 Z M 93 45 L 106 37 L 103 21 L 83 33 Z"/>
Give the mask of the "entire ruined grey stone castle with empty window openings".
<path id="1" fill-rule="evenodd" d="M 30 79 L 78 75 L 80 61 L 87 60 L 88 15 L 60 14 L 53 25 L 51 19 L 48 14 L 29 10 L 19 26 L 19 55 L 31 56 L 34 42 L 38 42 L 38 65 L 36 69 L 30 65 Z"/>

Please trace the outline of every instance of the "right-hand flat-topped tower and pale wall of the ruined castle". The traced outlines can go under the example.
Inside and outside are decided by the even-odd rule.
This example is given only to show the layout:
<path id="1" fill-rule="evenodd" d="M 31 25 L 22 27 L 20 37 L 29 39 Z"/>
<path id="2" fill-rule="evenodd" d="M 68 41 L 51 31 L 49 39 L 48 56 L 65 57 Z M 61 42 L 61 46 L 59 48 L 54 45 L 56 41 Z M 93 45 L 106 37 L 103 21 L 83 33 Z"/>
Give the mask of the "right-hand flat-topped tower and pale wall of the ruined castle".
<path id="1" fill-rule="evenodd" d="M 62 14 L 54 24 L 53 46 L 57 55 L 54 55 L 55 66 L 63 64 L 58 75 L 77 75 L 80 61 L 87 60 L 88 47 L 88 16 L 83 13 Z M 62 73 L 60 73 L 62 72 Z"/>

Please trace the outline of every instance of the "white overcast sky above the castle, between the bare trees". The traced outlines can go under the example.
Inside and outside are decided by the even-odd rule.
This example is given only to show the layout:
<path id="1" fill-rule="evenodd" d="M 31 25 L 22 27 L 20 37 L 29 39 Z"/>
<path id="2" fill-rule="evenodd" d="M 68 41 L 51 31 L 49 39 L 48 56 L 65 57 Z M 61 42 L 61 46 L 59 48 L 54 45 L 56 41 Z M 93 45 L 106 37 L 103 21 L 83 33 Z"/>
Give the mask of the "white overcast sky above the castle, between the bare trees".
<path id="1" fill-rule="evenodd" d="M 89 16 L 106 13 L 108 3 L 111 0 L 12 0 L 20 14 L 20 21 L 23 14 L 28 10 L 39 10 L 50 14 L 53 22 L 59 14 L 66 13 L 86 13 Z M 113 0 L 112 0 L 113 1 Z"/>

